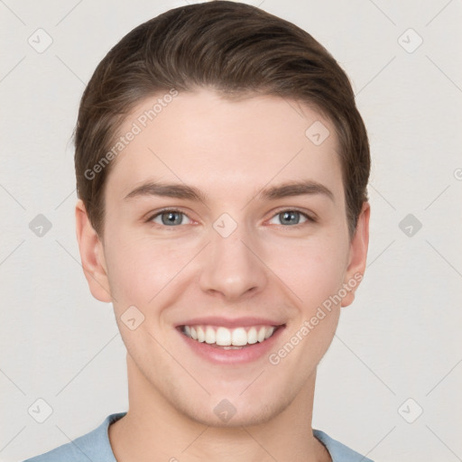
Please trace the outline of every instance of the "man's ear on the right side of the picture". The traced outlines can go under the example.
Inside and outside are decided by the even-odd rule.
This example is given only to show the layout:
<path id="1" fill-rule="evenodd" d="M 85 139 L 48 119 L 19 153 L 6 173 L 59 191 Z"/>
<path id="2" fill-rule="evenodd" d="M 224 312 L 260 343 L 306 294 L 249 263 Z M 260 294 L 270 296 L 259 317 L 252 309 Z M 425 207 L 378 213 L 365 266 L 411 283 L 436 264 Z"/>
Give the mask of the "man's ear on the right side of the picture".
<path id="1" fill-rule="evenodd" d="M 355 236 L 350 243 L 350 253 L 344 287 L 347 295 L 343 298 L 341 306 L 347 307 L 355 300 L 355 292 L 365 273 L 365 261 L 369 246 L 369 217 L 371 207 L 368 202 L 363 204 L 357 219 Z"/>

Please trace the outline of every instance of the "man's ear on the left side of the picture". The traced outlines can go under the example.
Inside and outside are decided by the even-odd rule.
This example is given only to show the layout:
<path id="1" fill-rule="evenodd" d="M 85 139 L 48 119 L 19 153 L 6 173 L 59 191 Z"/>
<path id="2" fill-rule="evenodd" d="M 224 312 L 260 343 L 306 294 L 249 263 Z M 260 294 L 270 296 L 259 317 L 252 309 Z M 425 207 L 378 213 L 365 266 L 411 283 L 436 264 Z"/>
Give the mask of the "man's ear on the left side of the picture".
<path id="1" fill-rule="evenodd" d="M 83 272 L 93 297 L 100 301 L 112 301 L 103 243 L 91 226 L 87 209 L 81 199 L 76 204 L 76 231 Z"/>

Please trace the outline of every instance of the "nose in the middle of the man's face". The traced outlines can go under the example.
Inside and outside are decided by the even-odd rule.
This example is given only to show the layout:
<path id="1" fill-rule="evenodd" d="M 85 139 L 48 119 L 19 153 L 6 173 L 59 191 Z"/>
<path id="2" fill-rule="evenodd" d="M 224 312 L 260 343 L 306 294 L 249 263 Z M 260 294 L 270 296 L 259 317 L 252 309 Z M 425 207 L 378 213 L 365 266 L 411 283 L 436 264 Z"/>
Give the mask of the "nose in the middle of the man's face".
<path id="1" fill-rule="evenodd" d="M 262 291 L 268 274 L 254 233 L 237 226 L 231 236 L 220 236 L 213 228 L 210 236 L 199 278 L 202 291 L 226 301 L 244 300 Z"/>

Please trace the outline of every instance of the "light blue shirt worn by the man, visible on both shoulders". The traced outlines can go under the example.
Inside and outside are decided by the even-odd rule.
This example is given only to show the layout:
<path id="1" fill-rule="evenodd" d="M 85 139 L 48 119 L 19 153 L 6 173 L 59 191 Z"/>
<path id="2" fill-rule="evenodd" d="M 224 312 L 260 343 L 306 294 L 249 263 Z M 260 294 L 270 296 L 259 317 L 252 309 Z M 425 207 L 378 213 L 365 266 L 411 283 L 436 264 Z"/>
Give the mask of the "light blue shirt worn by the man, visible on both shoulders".
<path id="1" fill-rule="evenodd" d="M 126 412 L 118 412 L 106 417 L 97 429 L 86 435 L 63 444 L 59 448 L 42 454 L 42 456 L 28 458 L 24 462 L 117 462 L 109 442 L 107 430 L 111 423 L 124 417 Z M 363 457 L 353 449 L 330 438 L 324 431 L 313 430 L 313 435 L 328 449 L 333 462 L 373 462 Z"/>

